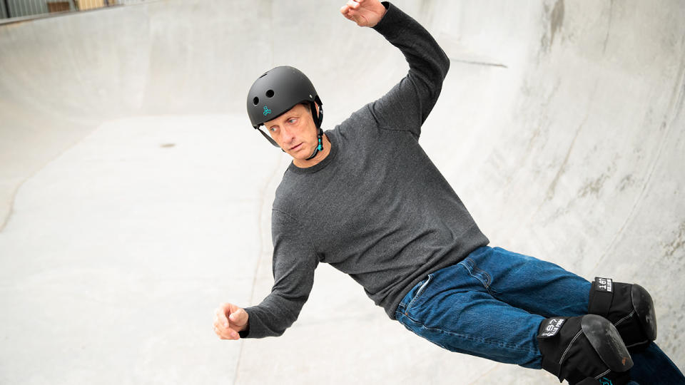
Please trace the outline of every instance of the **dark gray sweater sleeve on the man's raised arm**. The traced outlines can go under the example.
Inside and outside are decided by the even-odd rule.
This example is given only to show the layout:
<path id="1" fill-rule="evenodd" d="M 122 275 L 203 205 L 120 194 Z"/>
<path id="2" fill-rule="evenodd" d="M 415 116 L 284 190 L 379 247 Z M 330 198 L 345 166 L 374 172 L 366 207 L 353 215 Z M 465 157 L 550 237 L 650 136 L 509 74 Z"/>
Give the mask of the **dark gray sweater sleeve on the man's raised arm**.
<path id="1" fill-rule="evenodd" d="M 421 125 L 440 96 L 450 59 L 417 21 L 390 3 L 383 5 L 387 8 L 385 16 L 373 29 L 400 48 L 409 73 L 370 104 L 371 113 L 381 128 L 410 130 L 418 139 Z"/>

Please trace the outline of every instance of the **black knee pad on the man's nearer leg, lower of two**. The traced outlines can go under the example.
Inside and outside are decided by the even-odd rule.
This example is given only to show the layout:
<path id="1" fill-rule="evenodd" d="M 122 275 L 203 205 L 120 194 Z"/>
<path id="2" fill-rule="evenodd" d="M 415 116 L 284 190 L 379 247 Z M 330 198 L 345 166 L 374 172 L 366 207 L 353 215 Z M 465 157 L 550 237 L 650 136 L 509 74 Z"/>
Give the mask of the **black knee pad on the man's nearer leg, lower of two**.
<path id="1" fill-rule="evenodd" d="M 538 329 L 537 341 L 542 353 L 542 369 L 569 384 L 582 381 L 614 385 L 630 381 L 628 370 L 633 361 L 616 327 L 603 317 L 587 314 L 579 317 L 545 319 Z"/>

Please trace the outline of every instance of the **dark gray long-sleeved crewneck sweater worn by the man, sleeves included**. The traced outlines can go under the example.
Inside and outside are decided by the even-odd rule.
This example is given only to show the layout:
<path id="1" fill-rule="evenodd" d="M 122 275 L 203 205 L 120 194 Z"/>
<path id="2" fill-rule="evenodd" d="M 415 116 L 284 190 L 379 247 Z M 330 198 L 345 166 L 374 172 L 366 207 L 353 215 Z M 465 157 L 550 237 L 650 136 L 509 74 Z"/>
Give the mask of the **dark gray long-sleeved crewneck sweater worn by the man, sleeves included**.
<path id="1" fill-rule="evenodd" d="M 374 29 L 400 48 L 409 73 L 326 131 L 331 150 L 321 163 L 285 171 L 271 217 L 273 289 L 245 309 L 243 337 L 283 334 L 298 319 L 319 262 L 349 274 L 394 319 L 427 274 L 488 243 L 418 143 L 449 58 L 417 21 L 384 5 Z"/>

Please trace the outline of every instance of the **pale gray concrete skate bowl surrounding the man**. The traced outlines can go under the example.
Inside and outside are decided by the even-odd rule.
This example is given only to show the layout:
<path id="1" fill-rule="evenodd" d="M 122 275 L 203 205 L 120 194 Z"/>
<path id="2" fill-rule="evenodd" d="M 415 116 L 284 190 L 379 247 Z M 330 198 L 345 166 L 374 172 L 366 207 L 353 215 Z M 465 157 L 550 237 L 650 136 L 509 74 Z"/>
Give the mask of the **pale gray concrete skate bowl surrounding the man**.
<path id="1" fill-rule="evenodd" d="M 639 282 L 685 366 L 685 5 L 397 4 L 452 61 L 421 143 L 492 245 Z M 340 6 L 156 1 L 0 26 L 0 383 L 555 381 L 432 346 L 325 265 L 283 337 L 210 329 L 216 304 L 271 284 L 288 159 L 250 128 L 250 83 L 301 68 L 333 128 L 407 71 Z"/>

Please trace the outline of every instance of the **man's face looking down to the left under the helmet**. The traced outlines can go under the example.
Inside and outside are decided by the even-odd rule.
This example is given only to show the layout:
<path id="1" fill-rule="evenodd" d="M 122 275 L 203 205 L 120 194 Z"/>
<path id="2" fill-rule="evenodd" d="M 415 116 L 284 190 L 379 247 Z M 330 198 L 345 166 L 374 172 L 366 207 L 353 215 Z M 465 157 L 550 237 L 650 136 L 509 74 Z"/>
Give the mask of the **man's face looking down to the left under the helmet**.
<path id="1" fill-rule="evenodd" d="M 271 138 L 293 160 L 309 158 L 318 145 L 316 125 L 309 108 L 298 104 L 283 115 L 264 123 Z"/>

